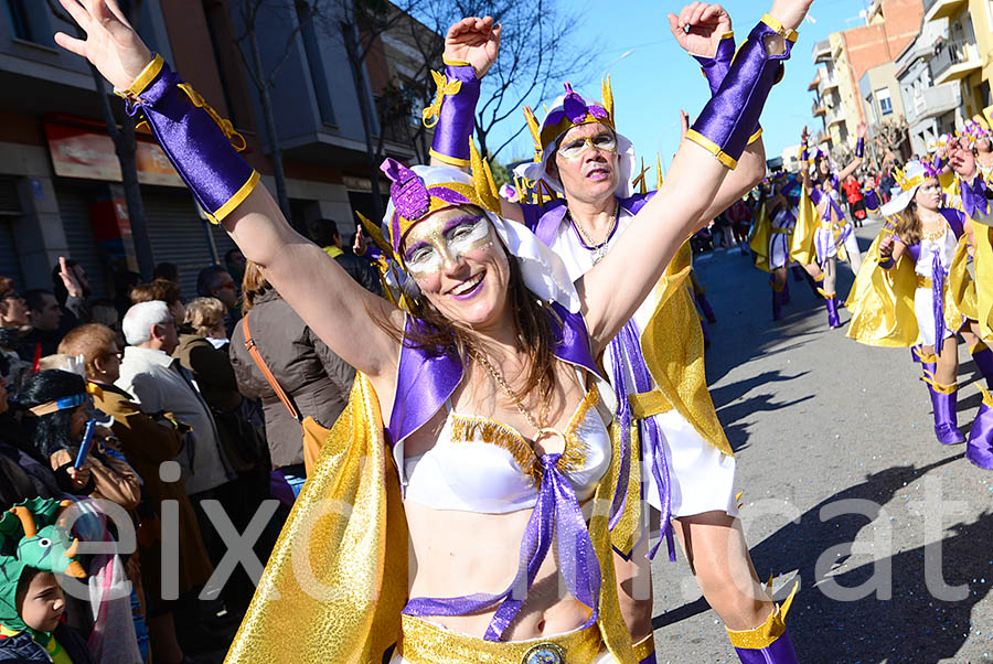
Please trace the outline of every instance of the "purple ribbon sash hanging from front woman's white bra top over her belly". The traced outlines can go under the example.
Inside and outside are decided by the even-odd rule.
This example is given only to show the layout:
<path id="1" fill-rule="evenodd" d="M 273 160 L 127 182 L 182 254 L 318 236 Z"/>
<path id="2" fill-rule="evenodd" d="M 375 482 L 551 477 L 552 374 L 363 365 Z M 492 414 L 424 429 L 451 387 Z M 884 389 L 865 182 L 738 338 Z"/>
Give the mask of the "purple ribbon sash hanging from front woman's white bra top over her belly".
<path id="1" fill-rule="evenodd" d="M 602 580 L 600 564 L 589 538 L 589 528 L 583 517 L 576 492 L 569 480 L 558 470 L 560 457 L 562 454 L 545 454 L 540 459 L 541 491 L 524 528 L 517 574 L 503 592 L 498 595 L 477 592 L 452 598 L 418 597 L 407 602 L 403 613 L 417 618 L 467 615 L 500 604 L 487 628 L 484 639 L 501 641 L 524 606 L 538 569 L 552 547 L 552 539 L 555 538 L 558 543 L 559 569 L 566 588 L 573 597 L 592 611 L 583 628 L 595 624 L 599 618 Z"/>

